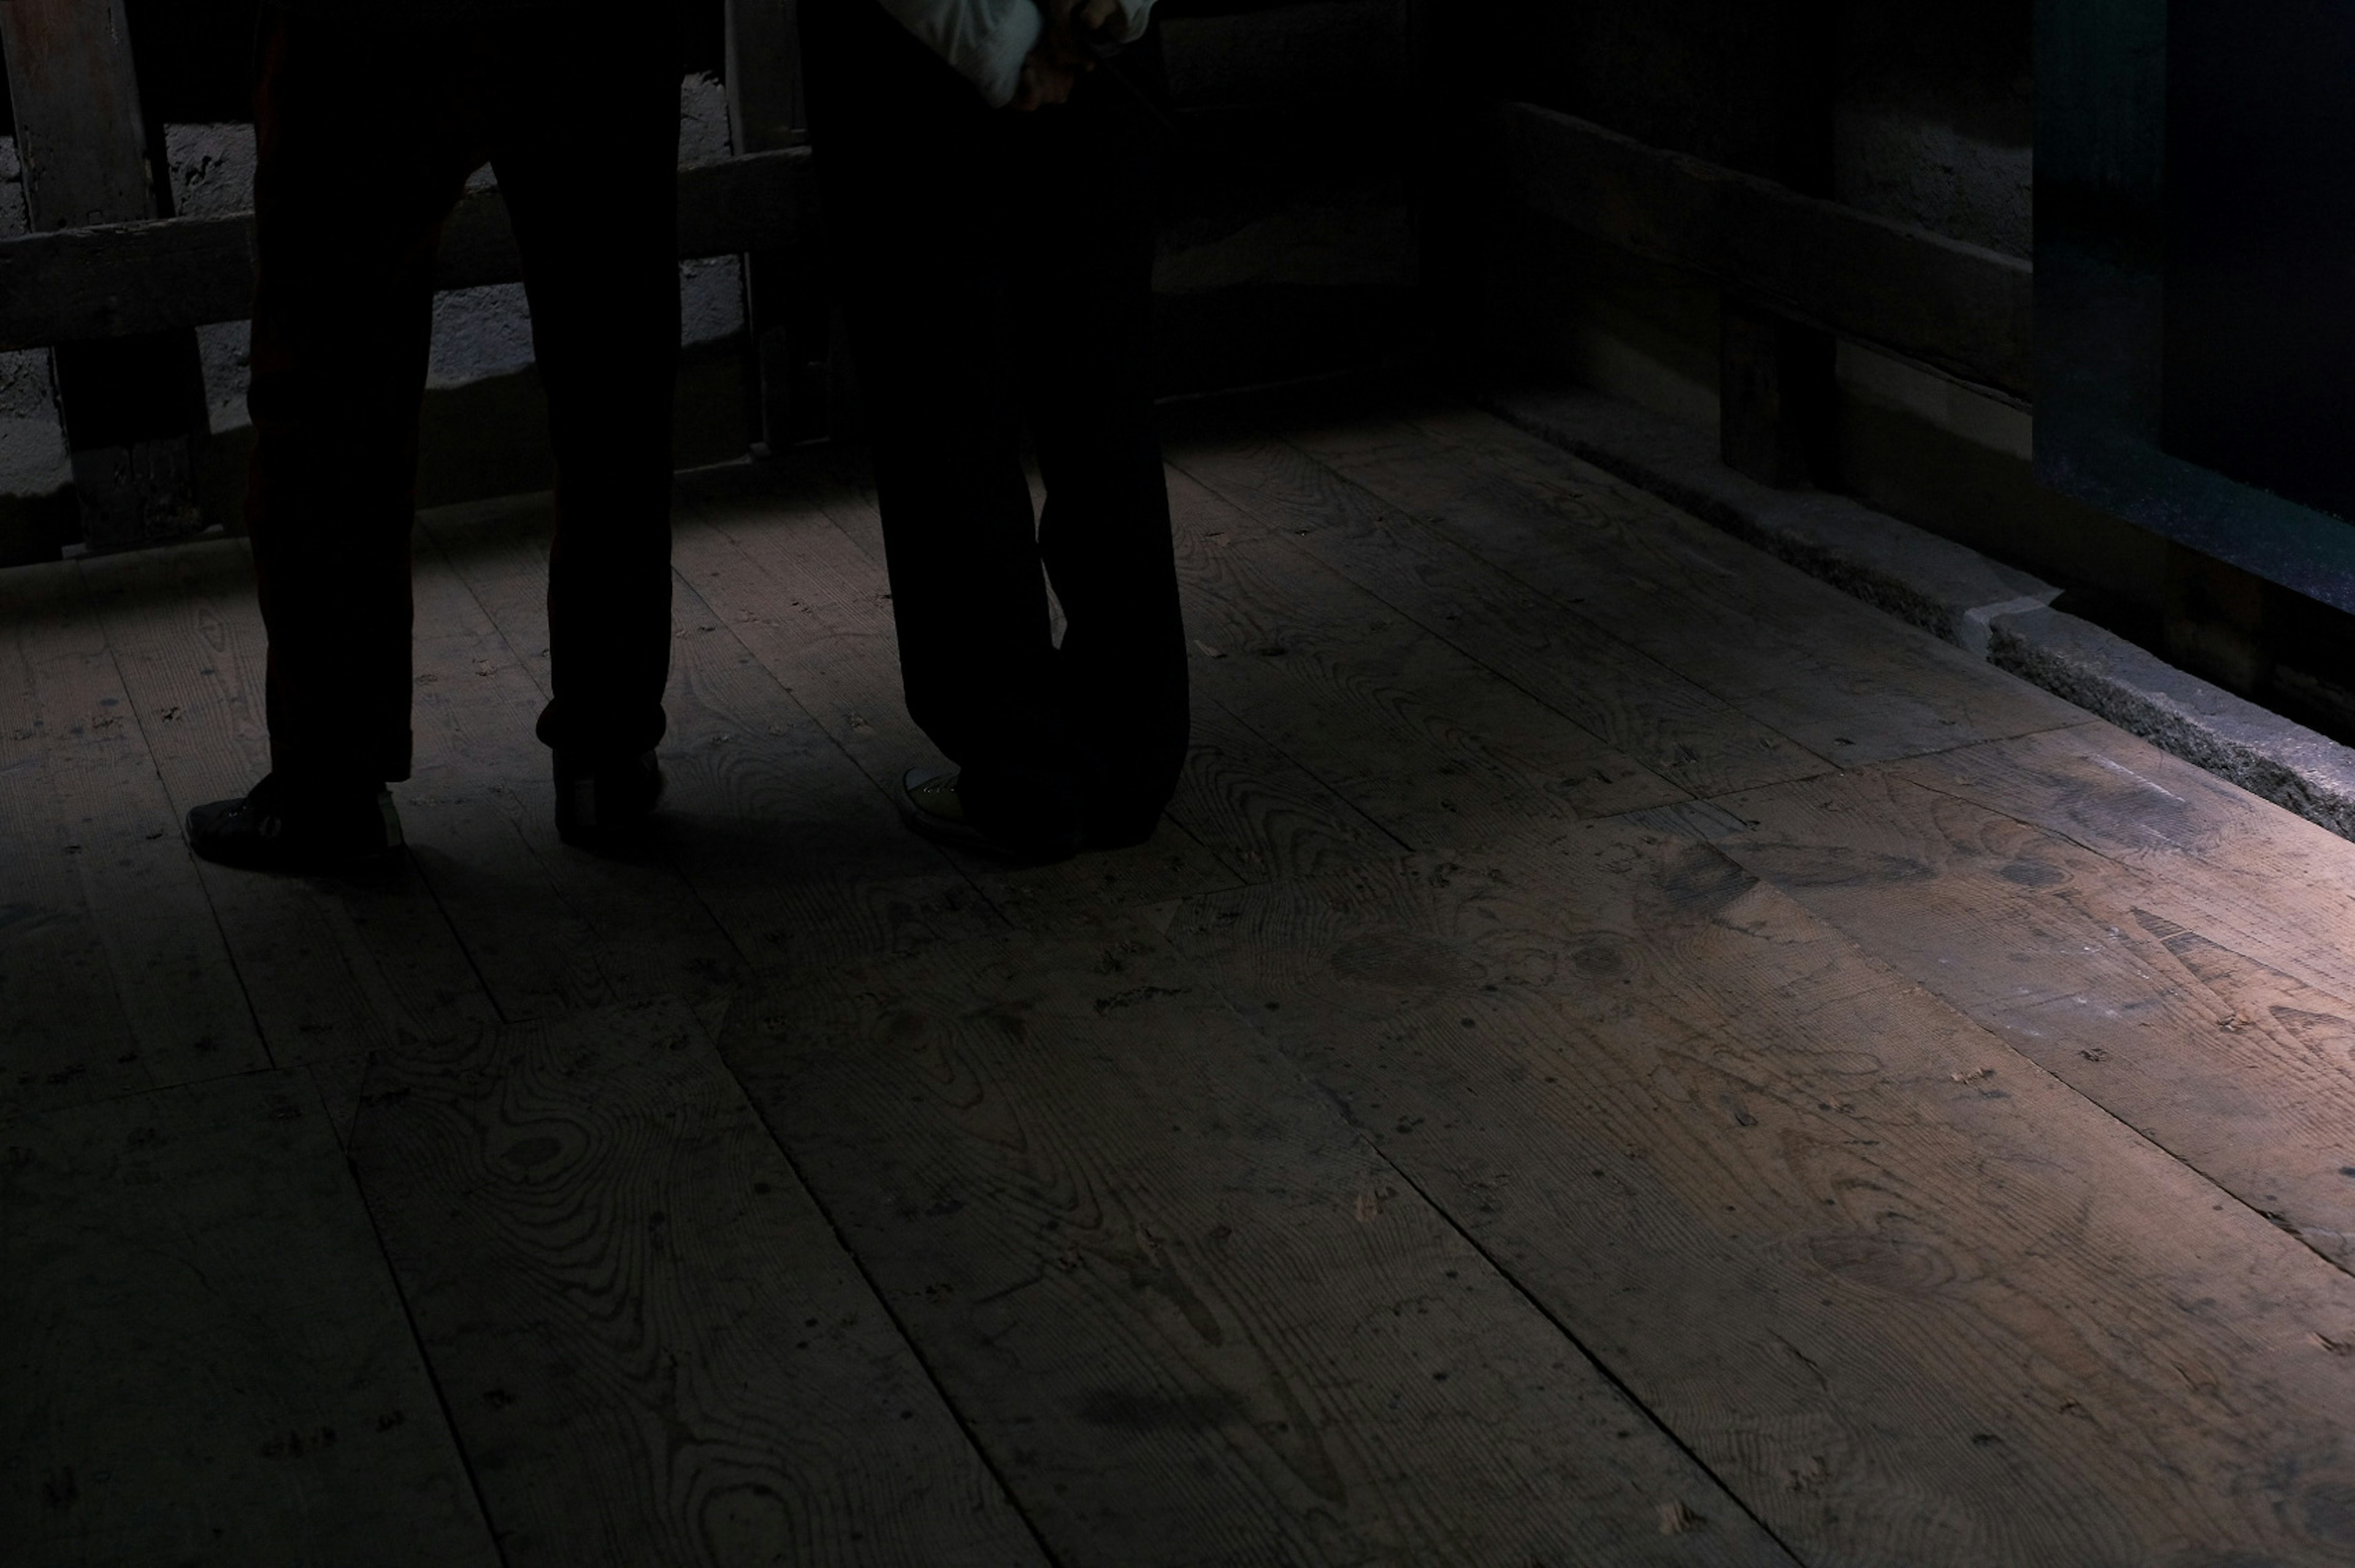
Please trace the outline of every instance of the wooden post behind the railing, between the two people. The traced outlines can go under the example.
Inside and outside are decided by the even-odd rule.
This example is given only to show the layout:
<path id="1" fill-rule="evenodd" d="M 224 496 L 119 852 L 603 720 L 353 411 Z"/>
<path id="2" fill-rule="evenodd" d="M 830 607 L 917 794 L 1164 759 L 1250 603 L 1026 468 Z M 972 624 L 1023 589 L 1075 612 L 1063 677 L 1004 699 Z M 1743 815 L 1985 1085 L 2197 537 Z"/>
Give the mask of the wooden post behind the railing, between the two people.
<path id="1" fill-rule="evenodd" d="M 728 137 L 739 158 L 808 144 L 796 0 L 728 0 L 725 75 Z M 777 450 L 824 436 L 831 306 L 815 235 L 744 257 L 744 313 L 758 438 Z"/>

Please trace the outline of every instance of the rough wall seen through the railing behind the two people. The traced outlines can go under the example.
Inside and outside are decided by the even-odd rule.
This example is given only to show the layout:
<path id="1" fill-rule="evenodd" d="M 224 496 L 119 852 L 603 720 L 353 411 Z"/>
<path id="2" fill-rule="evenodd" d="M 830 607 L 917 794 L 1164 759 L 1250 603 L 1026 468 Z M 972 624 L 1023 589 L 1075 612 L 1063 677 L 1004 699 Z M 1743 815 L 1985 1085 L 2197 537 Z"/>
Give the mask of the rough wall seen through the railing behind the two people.
<path id="1" fill-rule="evenodd" d="M 127 0 L 148 115 L 177 214 L 252 202 L 250 0 Z M 1408 0 L 1166 0 L 1182 127 L 1156 273 L 1161 388 L 1251 386 L 1394 358 L 1418 247 L 1408 221 Z M 683 19 L 681 160 L 725 158 L 721 0 Z M 7 125 L 0 89 L 0 125 Z M 490 184 L 490 172 L 476 184 Z M 14 144 L 0 137 L 0 235 L 26 228 Z M 742 457 L 758 428 L 735 259 L 688 261 L 681 466 Z M 205 513 L 236 527 L 245 323 L 198 330 L 210 440 Z M 0 563 L 54 558 L 75 534 L 47 353 L 0 356 Z M 546 412 L 520 285 L 445 292 L 422 417 L 419 504 L 546 485 Z"/>

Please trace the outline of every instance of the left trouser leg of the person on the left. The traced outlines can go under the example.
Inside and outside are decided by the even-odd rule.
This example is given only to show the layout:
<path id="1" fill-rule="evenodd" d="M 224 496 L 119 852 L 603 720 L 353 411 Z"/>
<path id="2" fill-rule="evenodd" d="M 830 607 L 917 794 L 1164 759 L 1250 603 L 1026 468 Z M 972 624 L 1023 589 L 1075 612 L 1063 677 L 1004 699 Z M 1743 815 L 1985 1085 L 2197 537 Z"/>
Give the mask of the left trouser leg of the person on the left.
<path id="1" fill-rule="evenodd" d="M 254 454 L 271 768 L 410 775 L 410 527 L 433 247 L 480 160 L 464 38 L 266 9 Z"/>

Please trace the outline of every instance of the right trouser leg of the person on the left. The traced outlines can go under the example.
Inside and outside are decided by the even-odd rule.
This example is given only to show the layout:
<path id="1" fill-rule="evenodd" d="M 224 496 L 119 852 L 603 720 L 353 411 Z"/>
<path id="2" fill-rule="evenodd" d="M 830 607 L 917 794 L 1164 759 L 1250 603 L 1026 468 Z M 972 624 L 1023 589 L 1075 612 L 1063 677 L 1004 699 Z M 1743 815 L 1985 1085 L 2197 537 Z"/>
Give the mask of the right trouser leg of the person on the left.
<path id="1" fill-rule="evenodd" d="M 626 28 L 509 33 L 492 167 L 556 450 L 539 739 L 582 760 L 636 756 L 662 739 L 671 671 L 678 35 L 664 7 Z"/>

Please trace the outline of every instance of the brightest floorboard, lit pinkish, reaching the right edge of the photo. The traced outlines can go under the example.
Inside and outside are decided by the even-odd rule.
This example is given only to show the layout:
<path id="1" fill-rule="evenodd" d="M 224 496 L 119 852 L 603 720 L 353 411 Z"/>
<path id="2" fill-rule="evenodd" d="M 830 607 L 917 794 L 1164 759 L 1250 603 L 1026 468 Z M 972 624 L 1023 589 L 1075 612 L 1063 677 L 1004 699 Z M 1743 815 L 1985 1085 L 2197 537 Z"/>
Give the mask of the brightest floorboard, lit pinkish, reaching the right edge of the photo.
<path id="1" fill-rule="evenodd" d="M 2098 730 L 2075 739 L 2101 756 Z M 2355 1264 L 2355 1005 L 2202 930 L 2211 904 L 2171 878 L 1889 770 L 1717 805 L 1710 838 L 1747 871 Z M 2336 859 L 2355 878 L 2355 845 Z"/>

